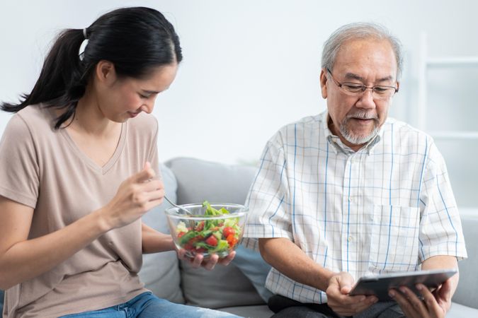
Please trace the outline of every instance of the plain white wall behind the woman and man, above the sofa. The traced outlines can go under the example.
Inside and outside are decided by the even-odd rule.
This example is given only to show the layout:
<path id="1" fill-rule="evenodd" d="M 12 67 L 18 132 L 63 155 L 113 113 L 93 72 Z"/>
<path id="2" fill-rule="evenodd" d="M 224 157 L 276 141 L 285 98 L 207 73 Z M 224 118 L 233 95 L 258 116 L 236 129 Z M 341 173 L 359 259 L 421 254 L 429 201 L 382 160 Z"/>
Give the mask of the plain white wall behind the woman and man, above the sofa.
<path id="1" fill-rule="evenodd" d="M 478 56 L 478 2 L 471 0 L 2 1 L 0 100 L 29 92 L 57 30 L 84 28 L 112 8 L 132 5 L 165 13 L 184 52 L 175 83 L 154 110 L 161 124 L 161 160 L 188 155 L 254 162 L 280 126 L 324 110 L 321 46 L 344 23 L 382 23 L 402 40 L 406 66 L 391 115 L 411 124 L 416 124 L 420 31 L 428 33 L 431 56 Z M 453 91 L 440 85 L 433 92 L 453 100 Z M 471 111 L 475 100 L 460 107 Z M 0 113 L 0 134 L 9 116 Z M 474 120 L 460 120 L 476 126 Z M 457 187 L 460 181 L 455 180 Z"/>

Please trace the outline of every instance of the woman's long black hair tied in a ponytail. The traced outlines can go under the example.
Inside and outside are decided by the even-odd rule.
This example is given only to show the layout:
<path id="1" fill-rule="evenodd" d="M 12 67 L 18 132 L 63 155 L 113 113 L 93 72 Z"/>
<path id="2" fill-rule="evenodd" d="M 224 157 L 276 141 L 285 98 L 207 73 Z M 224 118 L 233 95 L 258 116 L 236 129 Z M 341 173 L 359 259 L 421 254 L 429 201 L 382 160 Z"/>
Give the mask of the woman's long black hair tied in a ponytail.
<path id="1" fill-rule="evenodd" d="M 80 55 L 81 43 L 88 39 Z M 173 25 L 152 8 L 131 7 L 110 11 L 86 29 L 67 29 L 59 34 L 43 63 L 30 94 L 21 102 L 0 103 L 1 110 L 18 112 L 28 105 L 65 109 L 57 118 L 59 129 L 74 117 L 78 100 L 98 61 L 113 63 L 121 77 L 144 78 L 157 66 L 180 63 L 179 37 Z"/>

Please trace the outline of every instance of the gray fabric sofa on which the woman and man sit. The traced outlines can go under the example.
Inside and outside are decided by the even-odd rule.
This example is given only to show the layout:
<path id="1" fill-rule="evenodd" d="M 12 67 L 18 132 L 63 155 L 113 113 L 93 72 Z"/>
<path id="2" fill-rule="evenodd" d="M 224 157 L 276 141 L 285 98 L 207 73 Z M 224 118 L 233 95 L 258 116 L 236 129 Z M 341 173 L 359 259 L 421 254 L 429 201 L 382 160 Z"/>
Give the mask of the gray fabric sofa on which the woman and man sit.
<path id="1" fill-rule="evenodd" d="M 243 204 L 255 167 L 223 165 L 193 158 L 175 158 L 161 168 L 166 195 L 178 204 L 222 201 Z M 167 231 L 164 203 L 143 220 Z M 460 285 L 447 317 L 478 317 L 478 216 L 462 217 L 469 259 L 460 261 Z M 243 317 L 270 317 L 263 285 L 268 266 L 256 252 L 239 247 L 229 266 L 213 271 L 192 269 L 175 252 L 144 255 L 140 276 L 146 287 L 173 302 L 210 307 Z M 1 305 L 0 305 L 1 307 Z"/>

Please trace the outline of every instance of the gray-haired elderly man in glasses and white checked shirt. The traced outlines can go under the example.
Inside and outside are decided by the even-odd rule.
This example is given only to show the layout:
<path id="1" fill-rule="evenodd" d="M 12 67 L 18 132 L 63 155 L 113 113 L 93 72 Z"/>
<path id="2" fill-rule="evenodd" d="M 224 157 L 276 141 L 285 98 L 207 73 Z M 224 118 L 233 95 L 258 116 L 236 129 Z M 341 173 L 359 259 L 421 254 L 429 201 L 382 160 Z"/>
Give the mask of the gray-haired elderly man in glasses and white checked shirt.
<path id="1" fill-rule="evenodd" d="M 326 112 L 268 141 L 247 199 L 245 242 L 273 266 L 273 317 L 445 317 L 458 275 L 433 293 L 419 285 L 424 301 L 407 288 L 389 291 L 396 302 L 348 295 L 365 274 L 467 257 L 433 139 L 387 118 L 400 43 L 380 25 L 345 25 L 325 42 L 321 67 Z"/>

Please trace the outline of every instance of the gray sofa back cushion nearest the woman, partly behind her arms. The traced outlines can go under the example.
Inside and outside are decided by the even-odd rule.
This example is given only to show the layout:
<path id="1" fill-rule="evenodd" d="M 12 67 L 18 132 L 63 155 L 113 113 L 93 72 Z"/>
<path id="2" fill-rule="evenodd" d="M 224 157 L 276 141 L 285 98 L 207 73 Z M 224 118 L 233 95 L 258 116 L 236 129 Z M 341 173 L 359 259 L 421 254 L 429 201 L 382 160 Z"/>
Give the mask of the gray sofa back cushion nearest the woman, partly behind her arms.
<path id="1" fill-rule="evenodd" d="M 165 165 L 161 165 L 161 175 L 166 196 L 175 202 L 177 184 L 173 172 Z M 171 205 L 164 201 L 160 206 L 146 213 L 142 217 L 143 222 L 154 230 L 169 233 L 166 214 L 164 214 L 164 210 L 169 207 Z M 144 254 L 140 278 L 144 287 L 151 290 L 159 298 L 182 304 L 185 302 L 181 293 L 181 278 L 175 251 Z"/>

